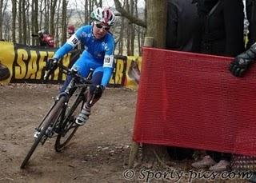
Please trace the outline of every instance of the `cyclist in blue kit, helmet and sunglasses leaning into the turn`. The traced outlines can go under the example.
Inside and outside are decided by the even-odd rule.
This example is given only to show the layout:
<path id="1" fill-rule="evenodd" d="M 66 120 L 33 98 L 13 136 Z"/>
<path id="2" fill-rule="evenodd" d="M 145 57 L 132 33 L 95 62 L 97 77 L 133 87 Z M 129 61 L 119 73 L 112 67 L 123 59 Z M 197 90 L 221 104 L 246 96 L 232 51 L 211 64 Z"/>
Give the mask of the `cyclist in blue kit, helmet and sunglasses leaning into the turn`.
<path id="1" fill-rule="evenodd" d="M 114 36 L 110 33 L 110 27 L 114 26 L 115 22 L 114 14 L 108 8 L 98 7 L 92 11 L 90 17 L 93 22 L 90 25 L 80 27 L 56 51 L 53 58 L 46 62 L 46 70 L 55 70 L 58 60 L 73 50 L 79 42 L 85 46 L 85 50 L 73 67 L 78 69 L 78 74 L 81 74 L 82 77 L 86 77 L 89 74 L 90 68 L 94 69 L 92 82 L 95 86 L 91 86 L 90 92 L 86 93 L 87 101 L 75 121 L 78 125 L 86 123 L 90 115 L 91 106 L 102 96 L 102 92 L 110 81 L 114 63 Z M 68 76 L 60 92 L 66 89 L 70 80 L 71 77 Z M 94 101 L 89 104 L 93 93 L 95 94 Z"/>

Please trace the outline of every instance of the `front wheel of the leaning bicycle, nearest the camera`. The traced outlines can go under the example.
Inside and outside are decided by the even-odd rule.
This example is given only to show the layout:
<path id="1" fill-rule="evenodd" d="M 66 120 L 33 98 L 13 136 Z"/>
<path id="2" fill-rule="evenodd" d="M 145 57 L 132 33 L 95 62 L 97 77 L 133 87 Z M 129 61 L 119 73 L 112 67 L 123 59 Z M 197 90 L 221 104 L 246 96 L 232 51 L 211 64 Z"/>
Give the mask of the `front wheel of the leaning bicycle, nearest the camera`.
<path id="1" fill-rule="evenodd" d="M 46 130 L 50 125 L 54 124 L 54 121 L 57 121 L 58 118 L 60 117 L 62 110 L 64 109 L 63 106 L 65 105 L 65 101 L 66 101 L 66 97 L 64 96 L 60 97 L 60 99 L 56 102 L 56 104 L 50 110 L 45 121 L 42 122 L 42 129 L 38 134 L 38 137 L 35 139 L 34 144 L 31 146 L 29 152 L 26 154 L 25 159 L 22 161 L 22 165 L 20 166 L 21 169 L 25 168 L 27 162 L 30 160 L 30 157 L 34 153 L 34 150 L 37 148 L 39 142 L 41 142 L 42 139 L 46 141 L 46 138 L 48 137 L 46 134 Z"/>

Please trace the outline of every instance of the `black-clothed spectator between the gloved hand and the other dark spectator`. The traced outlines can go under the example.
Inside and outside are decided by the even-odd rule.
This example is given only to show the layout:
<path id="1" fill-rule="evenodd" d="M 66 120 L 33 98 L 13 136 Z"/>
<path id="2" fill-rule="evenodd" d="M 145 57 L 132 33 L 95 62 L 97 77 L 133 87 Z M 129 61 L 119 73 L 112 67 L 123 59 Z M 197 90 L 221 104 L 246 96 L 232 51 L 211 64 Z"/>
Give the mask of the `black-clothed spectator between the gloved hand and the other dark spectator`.
<path id="1" fill-rule="evenodd" d="M 193 50 L 234 57 L 245 50 L 242 0 L 194 0 L 201 26 Z M 199 50 L 199 51 L 198 51 Z"/>

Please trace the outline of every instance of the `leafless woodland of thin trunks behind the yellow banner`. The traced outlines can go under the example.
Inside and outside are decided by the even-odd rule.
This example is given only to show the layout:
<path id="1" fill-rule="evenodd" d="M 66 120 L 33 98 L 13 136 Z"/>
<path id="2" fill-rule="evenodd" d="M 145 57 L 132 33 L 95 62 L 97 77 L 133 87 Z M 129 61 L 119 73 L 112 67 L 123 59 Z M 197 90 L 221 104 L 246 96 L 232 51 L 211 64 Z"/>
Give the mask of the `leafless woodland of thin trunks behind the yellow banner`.
<path id="1" fill-rule="evenodd" d="M 66 42 L 67 26 L 90 24 L 90 12 L 97 6 L 110 7 L 118 16 L 111 29 L 116 54 L 141 55 L 146 35 L 145 0 L 0 0 L 0 40 L 37 46 L 32 34 L 48 30 L 55 45 Z"/>

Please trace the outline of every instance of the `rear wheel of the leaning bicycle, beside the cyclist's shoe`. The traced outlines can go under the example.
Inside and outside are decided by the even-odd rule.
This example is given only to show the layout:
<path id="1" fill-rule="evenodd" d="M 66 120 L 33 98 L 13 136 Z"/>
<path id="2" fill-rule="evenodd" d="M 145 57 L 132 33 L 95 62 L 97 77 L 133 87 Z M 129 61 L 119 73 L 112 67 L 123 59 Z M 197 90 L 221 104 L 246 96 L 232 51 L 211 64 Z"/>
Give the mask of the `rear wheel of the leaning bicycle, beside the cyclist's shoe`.
<path id="1" fill-rule="evenodd" d="M 74 136 L 74 133 L 78 129 L 78 125 L 74 123 L 76 117 L 81 112 L 82 105 L 85 101 L 84 90 L 77 90 L 68 102 L 68 107 L 66 109 L 66 114 L 61 124 L 61 131 L 55 141 L 54 149 L 57 152 L 61 152 L 65 148 L 66 144 Z"/>

